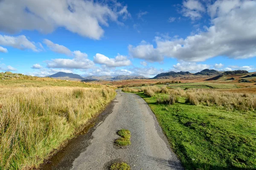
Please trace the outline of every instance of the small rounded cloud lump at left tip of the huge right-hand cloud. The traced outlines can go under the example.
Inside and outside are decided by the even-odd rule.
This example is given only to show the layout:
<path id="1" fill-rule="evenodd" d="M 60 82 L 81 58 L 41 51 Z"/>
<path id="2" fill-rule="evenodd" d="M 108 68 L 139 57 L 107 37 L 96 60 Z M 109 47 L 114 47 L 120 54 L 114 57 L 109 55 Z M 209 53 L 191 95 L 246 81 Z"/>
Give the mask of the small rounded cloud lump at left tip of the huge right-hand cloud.
<path id="1" fill-rule="evenodd" d="M 160 51 L 154 48 L 153 45 L 147 44 L 145 41 L 142 41 L 137 47 L 129 45 L 128 50 L 130 55 L 134 58 L 145 59 L 149 62 L 163 61 L 163 55 L 160 54 Z"/>

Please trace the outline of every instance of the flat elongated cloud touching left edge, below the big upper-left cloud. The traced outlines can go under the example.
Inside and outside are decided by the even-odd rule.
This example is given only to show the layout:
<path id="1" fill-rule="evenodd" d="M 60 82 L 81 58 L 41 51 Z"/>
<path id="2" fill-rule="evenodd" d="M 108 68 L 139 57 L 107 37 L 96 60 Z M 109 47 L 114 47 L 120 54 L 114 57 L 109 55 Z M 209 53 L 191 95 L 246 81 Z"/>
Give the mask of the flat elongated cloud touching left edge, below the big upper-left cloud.
<path id="1" fill-rule="evenodd" d="M 25 35 L 20 35 L 17 37 L 0 35 L 0 45 L 11 46 L 20 50 L 31 49 L 36 52 L 40 51 L 35 46 L 35 42 L 29 41 Z"/>

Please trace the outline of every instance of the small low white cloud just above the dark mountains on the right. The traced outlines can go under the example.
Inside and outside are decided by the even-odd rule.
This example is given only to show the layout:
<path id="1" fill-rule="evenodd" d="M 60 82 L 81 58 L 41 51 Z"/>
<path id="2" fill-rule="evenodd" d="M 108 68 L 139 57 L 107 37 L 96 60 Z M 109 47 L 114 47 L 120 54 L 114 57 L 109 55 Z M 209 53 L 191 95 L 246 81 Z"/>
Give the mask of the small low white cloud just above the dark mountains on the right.
<path id="1" fill-rule="evenodd" d="M 175 71 L 189 71 L 195 73 L 210 68 L 210 65 L 197 64 L 195 62 L 181 62 L 173 65 L 173 68 L 175 69 Z"/>

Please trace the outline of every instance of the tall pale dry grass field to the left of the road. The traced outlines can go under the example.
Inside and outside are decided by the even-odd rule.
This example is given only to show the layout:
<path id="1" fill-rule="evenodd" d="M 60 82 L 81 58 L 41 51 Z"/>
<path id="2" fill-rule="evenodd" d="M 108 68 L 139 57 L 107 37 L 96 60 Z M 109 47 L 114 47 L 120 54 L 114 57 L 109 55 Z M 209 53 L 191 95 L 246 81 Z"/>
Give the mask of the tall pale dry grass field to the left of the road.
<path id="1" fill-rule="evenodd" d="M 4 86 L 0 89 L 0 169 L 36 167 L 82 130 L 115 94 L 105 86 Z"/>

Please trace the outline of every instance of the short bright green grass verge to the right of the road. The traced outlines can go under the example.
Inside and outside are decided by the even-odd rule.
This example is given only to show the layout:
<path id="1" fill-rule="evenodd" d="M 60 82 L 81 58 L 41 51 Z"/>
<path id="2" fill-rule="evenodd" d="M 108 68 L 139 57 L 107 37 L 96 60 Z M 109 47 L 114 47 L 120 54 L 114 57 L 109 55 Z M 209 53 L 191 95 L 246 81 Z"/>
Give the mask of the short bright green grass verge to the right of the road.
<path id="1" fill-rule="evenodd" d="M 256 112 L 217 106 L 158 105 L 157 94 L 138 93 L 155 113 L 163 132 L 187 170 L 256 168 Z"/>

